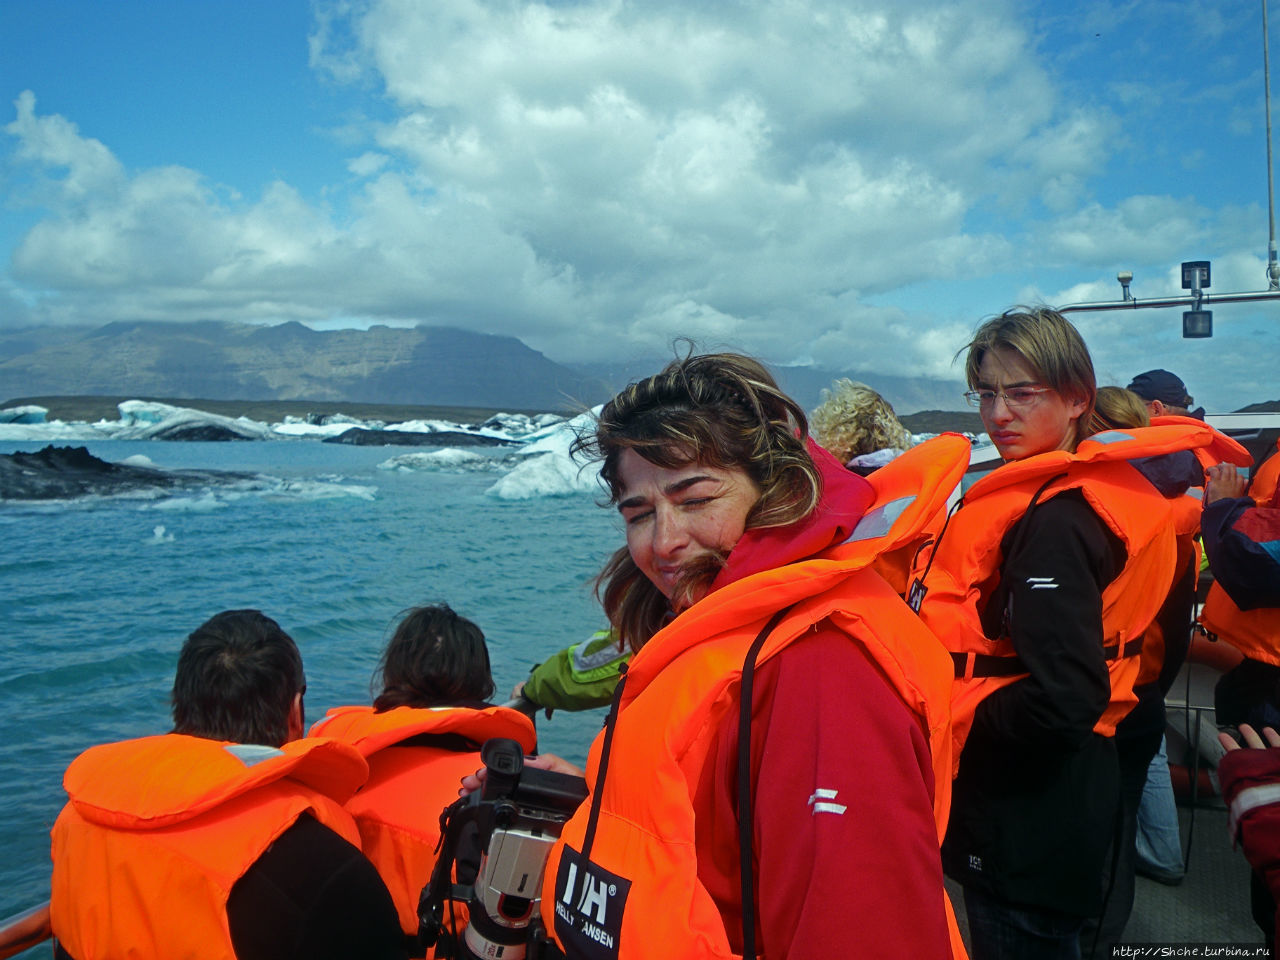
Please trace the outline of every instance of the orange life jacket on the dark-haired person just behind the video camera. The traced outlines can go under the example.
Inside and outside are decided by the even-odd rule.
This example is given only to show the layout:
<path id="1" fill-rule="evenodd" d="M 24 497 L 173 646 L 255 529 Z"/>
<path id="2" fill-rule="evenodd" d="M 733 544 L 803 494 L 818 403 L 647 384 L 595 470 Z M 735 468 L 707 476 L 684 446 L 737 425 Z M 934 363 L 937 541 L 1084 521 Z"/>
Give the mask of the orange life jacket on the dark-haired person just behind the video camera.
<path id="1" fill-rule="evenodd" d="M 419 896 L 435 867 L 440 812 L 458 799 L 458 781 L 481 765 L 477 750 L 389 749 L 421 733 L 457 733 L 476 744 L 507 737 L 526 753 L 538 745 L 532 721 L 506 707 L 397 707 L 385 713 L 338 707 L 311 728 L 312 736 L 349 744 L 369 762 L 369 781 L 347 801 L 347 810 L 360 828 L 361 849 L 396 901 L 401 928 L 411 936 L 417 933 Z M 461 915 L 460 923 L 465 919 Z"/>

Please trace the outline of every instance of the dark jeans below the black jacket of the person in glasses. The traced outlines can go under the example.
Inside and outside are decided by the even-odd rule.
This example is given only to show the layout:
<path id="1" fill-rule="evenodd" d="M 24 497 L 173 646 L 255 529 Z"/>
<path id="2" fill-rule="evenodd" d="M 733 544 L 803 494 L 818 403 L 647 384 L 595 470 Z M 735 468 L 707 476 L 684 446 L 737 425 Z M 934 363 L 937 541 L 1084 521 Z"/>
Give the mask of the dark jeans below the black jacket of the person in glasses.
<path id="1" fill-rule="evenodd" d="M 973 960 L 1080 960 L 1084 918 L 1018 906 L 964 888 Z"/>

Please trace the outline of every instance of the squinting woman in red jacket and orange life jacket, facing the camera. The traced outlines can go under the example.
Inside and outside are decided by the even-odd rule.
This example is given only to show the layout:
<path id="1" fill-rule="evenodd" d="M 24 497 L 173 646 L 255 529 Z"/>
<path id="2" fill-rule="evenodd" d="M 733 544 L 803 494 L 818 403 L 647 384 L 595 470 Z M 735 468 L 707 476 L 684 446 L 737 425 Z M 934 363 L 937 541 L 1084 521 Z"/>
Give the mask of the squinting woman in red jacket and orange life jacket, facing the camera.
<path id="1" fill-rule="evenodd" d="M 950 660 L 869 567 L 968 444 L 868 481 L 806 433 L 758 362 L 713 355 L 631 384 L 579 444 L 626 529 L 600 594 L 636 653 L 547 867 L 570 957 L 963 954 L 938 856 Z"/>

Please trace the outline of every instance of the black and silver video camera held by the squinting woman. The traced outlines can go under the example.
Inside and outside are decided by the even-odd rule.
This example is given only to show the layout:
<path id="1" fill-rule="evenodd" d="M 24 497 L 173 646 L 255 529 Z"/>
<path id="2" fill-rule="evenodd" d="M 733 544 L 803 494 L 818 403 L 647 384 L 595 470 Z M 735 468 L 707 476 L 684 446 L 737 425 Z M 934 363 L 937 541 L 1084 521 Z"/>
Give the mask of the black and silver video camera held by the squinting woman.
<path id="1" fill-rule="evenodd" d="M 586 781 L 525 767 L 515 740 L 486 740 L 480 759 L 484 787 L 440 814 L 435 869 L 419 900 L 419 941 L 434 945 L 438 957 L 536 960 L 553 947 L 538 915 L 547 858 L 586 799 Z M 470 913 L 461 937 L 454 901 Z"/>

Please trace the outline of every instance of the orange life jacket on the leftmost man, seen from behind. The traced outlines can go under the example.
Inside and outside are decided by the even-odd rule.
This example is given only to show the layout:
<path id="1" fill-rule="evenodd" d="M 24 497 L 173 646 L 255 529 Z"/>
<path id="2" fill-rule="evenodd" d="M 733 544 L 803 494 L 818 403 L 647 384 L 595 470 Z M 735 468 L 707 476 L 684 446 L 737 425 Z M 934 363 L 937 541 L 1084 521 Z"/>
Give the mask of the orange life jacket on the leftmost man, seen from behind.
<path id="1" fill-rule="evenodd" d="M 234 960 L 227 899 L 303 813 L 353 845 L 351 748 L 168 733 L 86 750 L 52 829 L 54 936 L 77 960 Z"/>

